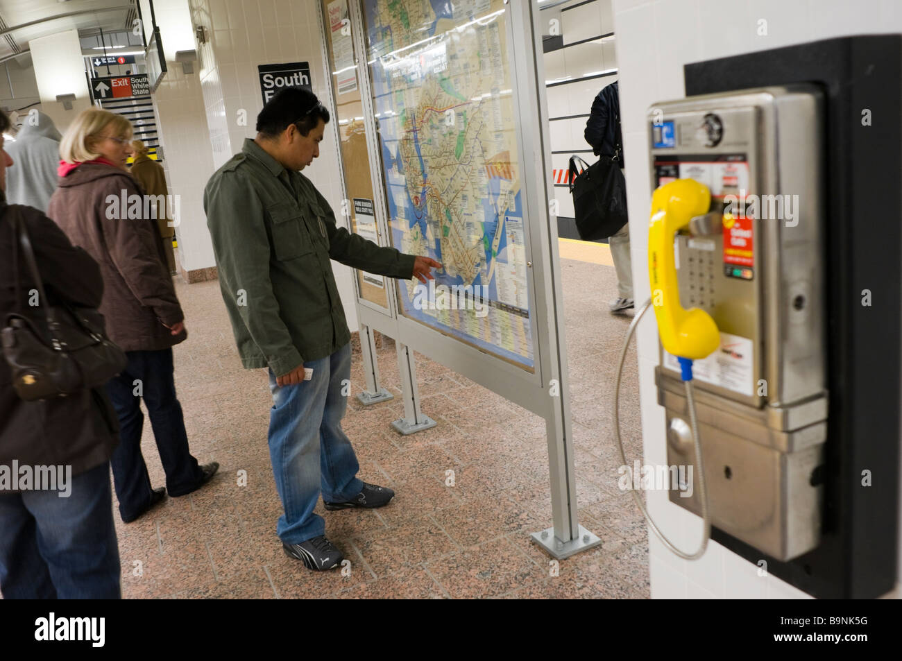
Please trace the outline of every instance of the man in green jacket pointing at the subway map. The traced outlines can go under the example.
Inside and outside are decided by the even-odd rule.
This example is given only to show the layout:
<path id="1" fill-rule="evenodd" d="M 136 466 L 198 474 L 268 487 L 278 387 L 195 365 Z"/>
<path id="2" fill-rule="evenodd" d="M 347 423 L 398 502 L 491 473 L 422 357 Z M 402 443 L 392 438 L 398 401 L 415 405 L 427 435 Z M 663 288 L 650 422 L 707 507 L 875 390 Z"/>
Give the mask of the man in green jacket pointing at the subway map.
<path id="1" fill-rule="evenodd" d="M 336 225 L 326 198 L 299 173 L 318 157 L 328 121 L 313 93 L 283 89 L 257 115 L 256 138 L 204 190 L 238 353 L 245 368 L 270 372 L 270 458 L 285 510 L 277 532 L 285 553 L 314 570 L 343 560 L 313 513 L 320 491 L 327 510 L 382 507 L 394 497 L 357 478 L 360 466 L 341 428 L 351 334 L 330 260 L 422 282 L 441 267 Z"/>

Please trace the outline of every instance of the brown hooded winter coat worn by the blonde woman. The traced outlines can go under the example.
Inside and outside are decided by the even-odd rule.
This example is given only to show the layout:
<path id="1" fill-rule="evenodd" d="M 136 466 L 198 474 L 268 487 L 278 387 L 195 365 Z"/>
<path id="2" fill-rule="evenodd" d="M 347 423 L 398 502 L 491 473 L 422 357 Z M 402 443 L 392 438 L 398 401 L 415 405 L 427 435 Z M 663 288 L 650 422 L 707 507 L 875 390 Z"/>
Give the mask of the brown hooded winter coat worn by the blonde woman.
<path id="1" fill-rule="evenodd" d="M 132 205 L 131 196 L 140 196 L 140 205 Z M 185 331 L 170 335 L 166 327 L 185 316 L 156 221 L 144 215 L 144 207 L 143 191 L 128 172 L 83 163 L 60 177 L 47 209 L 69 240 L 100 264 L 104 299 L 99 309 L 110 339 L 124 351 L 168 349 L 187 336 Z"/>

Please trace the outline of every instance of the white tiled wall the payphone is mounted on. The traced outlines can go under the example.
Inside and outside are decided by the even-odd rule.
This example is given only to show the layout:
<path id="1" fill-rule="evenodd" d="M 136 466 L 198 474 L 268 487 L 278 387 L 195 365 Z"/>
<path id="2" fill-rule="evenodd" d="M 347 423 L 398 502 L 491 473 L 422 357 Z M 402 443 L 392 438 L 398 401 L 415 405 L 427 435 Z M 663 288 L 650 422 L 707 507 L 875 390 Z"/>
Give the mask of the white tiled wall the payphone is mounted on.
<path id="1" fill-rule="evenodd" d="M 637 302 L 649 297 L 649 145 L 644 117 L 655 102 L 685 96 L 683 65 L 842 35 L 902 32 L 902 3 L 880 0 L 614 0 L 613 14 Z M 759 35 L 762 20 L 767 35 Z M 658 338 L 653 317 L 643 319 L 638 341 L 645 462 L 667 464 L 664 412 L 654 384 Z M 694 550 L 701 519 L 670 503 L 663 491 L 649 491 L 649 496 L 659 525 L 684 550 Z M 693 563 L 668 552 L 654 535 L 649 535 L 649 547 L 652 597 L 805 596 L 773 576 L 759 576 L 758 567 L 713 542 L 704 558 Z"/>

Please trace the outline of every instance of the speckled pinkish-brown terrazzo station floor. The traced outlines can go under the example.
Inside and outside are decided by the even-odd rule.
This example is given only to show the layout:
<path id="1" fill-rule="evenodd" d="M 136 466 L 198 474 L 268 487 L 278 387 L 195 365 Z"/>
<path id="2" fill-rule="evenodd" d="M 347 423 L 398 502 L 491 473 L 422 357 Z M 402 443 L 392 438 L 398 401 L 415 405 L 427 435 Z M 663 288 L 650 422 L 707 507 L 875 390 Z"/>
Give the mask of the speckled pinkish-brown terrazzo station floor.
<path id="1" fill-rule="evenodd" d="M 397 496 L 381 510 L 326 512 L 320 501 L 327 537 L 351 563 L 308 571 L 283 554 L 275 533 L 281 503 L 266 441 L 266 373 L 242 369 L 218 284 L 176 279 L 189 329 L 175 348 L 189 442 L 198 461 L 221 467 L 200 491 L 167 498 L 131 524 L 115 516 L 124 598 L 649 598 L 647 532 L 617 488 L 611 432 L 613 372 L 630 318 L 607 311 L 612 267 L 564 259 L 561 269 L 579 522 L 602 546 L 556 571 L 530 542 L 530 532 L 551 525 L 551 501 L 545 423 L 525 409 L 418 355 L 421 407 L 438 426 L 397 434 L 390 423 L 403 415 L 400 380 L 387 341 L 379 365 L 396 399 L 364 407 L 349 398 L 343 426 L 360 477 Z M 621 395 L 630 462 L 641 457 L 636 364 L 633 348 Z M 359 353 L 351 380 L 354 395 L 364 387 Z M 163 485 L 146 418 L 143 453 L 152 484 Z"/>

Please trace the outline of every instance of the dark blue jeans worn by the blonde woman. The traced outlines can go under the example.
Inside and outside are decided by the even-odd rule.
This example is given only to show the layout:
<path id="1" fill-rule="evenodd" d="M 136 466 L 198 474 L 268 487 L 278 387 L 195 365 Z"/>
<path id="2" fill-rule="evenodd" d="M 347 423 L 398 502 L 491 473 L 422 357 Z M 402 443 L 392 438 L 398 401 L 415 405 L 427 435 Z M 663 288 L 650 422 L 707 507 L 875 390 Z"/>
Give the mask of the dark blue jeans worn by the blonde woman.
<path id="1" fill-rule="evenodd" d="M 189 450 L 185 419 L 175 396 L 172 350 L 128 351 L 125 355 L 128 365 L 106 382 L 106 393 L 119 417 L 122 438 L 110 460 L 115 495 L 122 518 L 133 519 L 147 509 L 152 489 L 141 454 L 144 414 L 141 397 L 134 394 L 135 380 L 142 382 L 144 405 L 151 417 L 153 438 L 166 473 L 166 491 L 170 496 L 184 496 L 196 490 L 203 480 L 203 472 Z"/>

